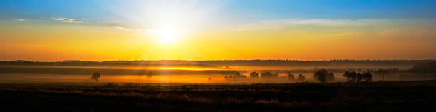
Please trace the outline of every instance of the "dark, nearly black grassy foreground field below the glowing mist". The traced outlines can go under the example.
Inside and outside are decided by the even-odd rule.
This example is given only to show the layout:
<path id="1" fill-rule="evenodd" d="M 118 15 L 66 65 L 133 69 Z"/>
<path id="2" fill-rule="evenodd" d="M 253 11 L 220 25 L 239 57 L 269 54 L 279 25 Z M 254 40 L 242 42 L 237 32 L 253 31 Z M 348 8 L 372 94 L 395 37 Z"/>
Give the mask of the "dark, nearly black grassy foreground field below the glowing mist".
<path id="1" fill-rule="evenodd" d="M 436 111 L 436 81 L 0 84 L 0 111 Z"/>

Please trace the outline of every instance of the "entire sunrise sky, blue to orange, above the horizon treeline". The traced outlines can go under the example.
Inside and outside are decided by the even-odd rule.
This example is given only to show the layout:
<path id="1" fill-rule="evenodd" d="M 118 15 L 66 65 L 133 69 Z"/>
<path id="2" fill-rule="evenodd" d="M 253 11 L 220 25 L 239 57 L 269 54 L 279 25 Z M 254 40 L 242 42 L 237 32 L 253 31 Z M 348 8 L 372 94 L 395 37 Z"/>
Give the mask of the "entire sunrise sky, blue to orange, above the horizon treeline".
<path id="1" fill-rule="evenodd" d="M 432 0 L 2 0 L 0 60 L 436 59 Z"/>

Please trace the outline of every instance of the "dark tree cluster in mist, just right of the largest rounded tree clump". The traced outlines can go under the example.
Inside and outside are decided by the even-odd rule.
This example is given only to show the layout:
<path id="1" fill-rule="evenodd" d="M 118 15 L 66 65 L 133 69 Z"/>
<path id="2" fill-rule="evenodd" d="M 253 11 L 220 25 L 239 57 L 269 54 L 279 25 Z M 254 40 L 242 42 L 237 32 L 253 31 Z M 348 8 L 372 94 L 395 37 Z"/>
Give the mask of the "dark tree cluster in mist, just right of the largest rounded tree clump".
<path id="1" fill-rule="evenodd" d="M 345 73 L 343 73 L 343 77 L 346 77 L 348 82 L 361 82 L 361 81 L 368 82 L 373 80 L 373 74 L 369 72 L 365 72 L 362 74 L 362 73 L 356 73 L 355 71 L 353 72 L 346 71 Z"/>

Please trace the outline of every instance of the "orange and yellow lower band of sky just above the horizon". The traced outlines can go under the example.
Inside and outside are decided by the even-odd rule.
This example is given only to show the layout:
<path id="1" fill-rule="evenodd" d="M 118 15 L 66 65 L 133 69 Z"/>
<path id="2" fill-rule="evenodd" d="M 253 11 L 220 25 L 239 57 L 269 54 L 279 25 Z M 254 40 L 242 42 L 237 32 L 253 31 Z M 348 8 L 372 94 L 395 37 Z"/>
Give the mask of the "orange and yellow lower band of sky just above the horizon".
<path id="1" fill-rule="evenodd" d="M 207 29 L 178 36 L 170 44 L 162 43 L 152 34 L 138 36 L 132 31 L 83 23 L 2 21 L 0 59 L 435 59 L 435 29 L 421 24 L 400 24 L 404 26 L 397 28 L 395 23 L 371 23 L 379 21 L 388 20 L 368 20 L 367 26 L 347 23 L 345 26 L 302 24 L 274 29 Z"/>

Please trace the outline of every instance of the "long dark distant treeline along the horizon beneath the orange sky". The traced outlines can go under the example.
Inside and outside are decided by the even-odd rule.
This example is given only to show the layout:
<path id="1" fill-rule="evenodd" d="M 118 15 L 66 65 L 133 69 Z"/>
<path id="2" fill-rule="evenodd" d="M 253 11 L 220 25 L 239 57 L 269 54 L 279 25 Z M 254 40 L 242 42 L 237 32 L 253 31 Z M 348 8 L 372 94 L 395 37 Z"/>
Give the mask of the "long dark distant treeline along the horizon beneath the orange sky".
<path id="1" fill-rule="evenodd" d="M 142 66 L 340 66 L 340 65 L 378 65 L 411 66 L 417 63 L 429 63 L 435 60 L 214 60 L 214 61 L 0 61 L 0 65 L 142 65 Z"/>

